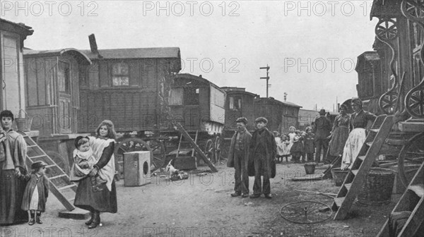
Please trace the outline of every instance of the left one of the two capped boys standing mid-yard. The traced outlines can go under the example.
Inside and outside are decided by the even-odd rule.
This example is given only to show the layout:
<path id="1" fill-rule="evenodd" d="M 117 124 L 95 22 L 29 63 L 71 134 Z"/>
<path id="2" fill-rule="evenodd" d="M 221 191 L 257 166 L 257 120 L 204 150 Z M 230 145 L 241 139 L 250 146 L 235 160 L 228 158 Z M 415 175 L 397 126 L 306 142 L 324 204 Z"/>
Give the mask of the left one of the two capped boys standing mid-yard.
<path id="1" fill-rule="evenodd" d="M 231 138 L 230 152 L 228 152 L 228 167 L 235 169 L 234 193 L 231 197 L 249 197 L 249 176 L 247 175 L 247 163 L 249 161 L 249 145 L 252 135 L 247 131 L 247 119 L 238 118 L 237 131 Z"/>

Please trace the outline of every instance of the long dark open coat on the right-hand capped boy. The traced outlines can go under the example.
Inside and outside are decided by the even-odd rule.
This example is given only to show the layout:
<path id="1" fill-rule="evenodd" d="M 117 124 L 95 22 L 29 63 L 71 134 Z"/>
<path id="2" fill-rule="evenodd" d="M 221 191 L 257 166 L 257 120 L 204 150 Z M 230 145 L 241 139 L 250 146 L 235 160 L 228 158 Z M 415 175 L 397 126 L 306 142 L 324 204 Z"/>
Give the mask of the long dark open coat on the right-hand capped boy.
<path id="1" fill-rule="evenodd" d="M 274 138 L 273 133 L 271 133 L 268 128 L 264 128 L 264 138 L 266 139 L 266 166 L 267 171 L 269 172 L 269 177 L 274 178 L 276 176 L 276 154 L 277 154 L 277 145 L 276 139 Z M 247 166 L 247 172 L 249 176 L 254 176 L 254 159 L 257 158 L 254 153 L 256 152 L 259 143 L 257 139 L 259 137 L 259 129 L 255 130 L 252 134 L 252 140 L 250 140 L 250 155 L 249 155 L 249 164 Z M 262 174 L 261 174 L 262 175 Z"/>

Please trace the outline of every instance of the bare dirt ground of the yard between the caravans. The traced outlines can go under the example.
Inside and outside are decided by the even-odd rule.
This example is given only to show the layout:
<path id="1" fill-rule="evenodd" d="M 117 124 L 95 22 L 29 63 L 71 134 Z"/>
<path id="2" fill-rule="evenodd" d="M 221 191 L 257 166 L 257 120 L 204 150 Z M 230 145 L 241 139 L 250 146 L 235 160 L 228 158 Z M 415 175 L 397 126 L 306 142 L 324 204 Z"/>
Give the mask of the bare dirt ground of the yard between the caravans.
<path id="1" fill-rule="evenodd" d="M 88 230 L 83 220 L 62 219 L 64 207 L 51 195 L 44 224 L 18 224 L 0 227 L 1 236 L 375 236 L 396 204 L 367 206 L 355 202 L 344 221 L 333 216 L 318 224 L 294 224 L 281 217 L 280 209 L 289 202 L 311 200 L 331 205 L 332 199 L 298 190 L 337 193 L 331 179 L 290 181 L 302 176 L 302 164 L 277 164 L 277 176 L 271 179 L 271 200 L 230 197 L 234 178 L 232 168 L 217 166 L 218 173 L 207 173 L 207 166 L 183 181 L 169 181 L 159 176 L 146 186 L 125 187 L 117 182 L 117 214 L 101 214 L 102 226 Z M 319 167 L 317 167 L 319 168 Z M 323 169 L 317 169 L 316 174 Z M 252 193 L 253 177 L 249 178 Z"/>

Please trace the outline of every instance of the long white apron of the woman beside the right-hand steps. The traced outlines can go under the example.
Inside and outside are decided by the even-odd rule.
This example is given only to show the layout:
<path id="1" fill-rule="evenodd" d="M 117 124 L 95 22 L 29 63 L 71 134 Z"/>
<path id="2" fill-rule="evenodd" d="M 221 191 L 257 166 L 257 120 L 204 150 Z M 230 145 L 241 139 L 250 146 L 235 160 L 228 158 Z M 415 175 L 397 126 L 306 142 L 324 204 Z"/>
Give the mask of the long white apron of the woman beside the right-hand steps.
<path id="1" fill-rule="evenodd" d="M 365 128 L 355 128 L 349 133 L 348 140 L 343 149 L 343 158 L 341 159 L 341 169 L 352 169 L 353 162 L 358 157 L 360 148 L 363 146 L 367 135 Z"/>

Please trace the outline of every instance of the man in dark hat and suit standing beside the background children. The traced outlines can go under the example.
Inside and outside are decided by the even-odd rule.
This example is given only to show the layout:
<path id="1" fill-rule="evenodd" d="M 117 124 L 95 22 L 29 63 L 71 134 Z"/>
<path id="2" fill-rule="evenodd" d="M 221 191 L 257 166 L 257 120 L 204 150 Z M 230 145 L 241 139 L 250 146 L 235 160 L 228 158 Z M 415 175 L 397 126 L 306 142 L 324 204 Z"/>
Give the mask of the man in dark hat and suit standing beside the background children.
<path id="1" fill-rule="evenodd" d="M 328 136 L 331 131 L 331 122 L 325 116 L 325 109 L 319 111 L 319 117 L 315 119 L 315 126 L 312 133 L 315 134 L 315 146 L 317 147 L 317 152 L 315 153 L 315 162 L 321 162 L 321 151 L 322 161 L 326 161 L 326 152 L 329 147 Z"/>

